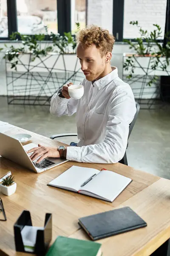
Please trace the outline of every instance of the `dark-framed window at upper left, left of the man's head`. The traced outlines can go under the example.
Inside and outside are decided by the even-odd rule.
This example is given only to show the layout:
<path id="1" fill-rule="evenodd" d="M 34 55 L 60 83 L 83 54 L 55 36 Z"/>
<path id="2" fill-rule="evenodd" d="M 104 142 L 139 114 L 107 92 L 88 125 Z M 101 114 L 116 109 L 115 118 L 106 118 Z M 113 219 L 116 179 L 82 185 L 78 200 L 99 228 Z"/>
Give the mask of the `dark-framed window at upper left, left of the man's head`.
<path id="1" fill-rule="evenodd" d="M 0 39 L 23 35 L 75 32 L 86 24 L 86 0 L 0 0 Z M 46 36 L 47 40 L 49 37 Z"/>

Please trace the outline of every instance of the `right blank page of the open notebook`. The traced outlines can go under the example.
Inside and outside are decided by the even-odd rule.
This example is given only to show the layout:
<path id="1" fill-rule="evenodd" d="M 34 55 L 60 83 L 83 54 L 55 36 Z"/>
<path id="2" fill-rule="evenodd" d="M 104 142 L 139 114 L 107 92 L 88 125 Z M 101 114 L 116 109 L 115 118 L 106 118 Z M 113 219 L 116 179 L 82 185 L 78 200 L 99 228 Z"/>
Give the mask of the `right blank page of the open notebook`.
<path id="1" fill-rule="evenodd" d="M 102 171 L 89 183 L 82 187 L 82 190 L 91 192 L 99 197 L 113 201 L 131 179 L 111 171 Z"/>

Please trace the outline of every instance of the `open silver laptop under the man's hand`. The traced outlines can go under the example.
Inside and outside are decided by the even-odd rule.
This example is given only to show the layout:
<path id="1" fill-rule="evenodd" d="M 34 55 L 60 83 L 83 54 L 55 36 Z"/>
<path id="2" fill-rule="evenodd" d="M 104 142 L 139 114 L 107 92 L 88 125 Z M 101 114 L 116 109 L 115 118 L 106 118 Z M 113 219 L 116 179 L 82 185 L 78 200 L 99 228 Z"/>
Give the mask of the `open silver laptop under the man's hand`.
<path id="1" fill-rule="evenodd" d="M 19 140 L 16 140 L 6 134 L 0 133 L 0 156 L 5 157 L 15 163 L 18 163 L 21 166 L 24 166 L 34 172 L 44 172 L 48 169 L 53 168 L 54 166 L 68 161 L 61 158 L 47 157 L 40 163 L 36 164 L 37 159 L 40 157 L 32 162 L 29 156 L 33 152 L 30 154 L 26 153 L 26 151 L 35 147 L 38 147 L 38 145 L 34 143 L 29 143 L 23 146 Z"/>

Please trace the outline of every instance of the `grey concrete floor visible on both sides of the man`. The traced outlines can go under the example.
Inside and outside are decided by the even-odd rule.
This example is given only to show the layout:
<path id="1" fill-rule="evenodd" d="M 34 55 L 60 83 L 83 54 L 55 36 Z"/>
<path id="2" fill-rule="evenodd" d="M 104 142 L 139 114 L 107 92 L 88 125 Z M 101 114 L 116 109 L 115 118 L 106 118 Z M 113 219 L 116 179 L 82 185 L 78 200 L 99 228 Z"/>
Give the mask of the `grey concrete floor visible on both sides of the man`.
<path id="1" fill-rule="evenodd" d="M 49 107 L 7 105 L 0 97 L 0 120 L 38 134 L 76 133 L 75 115 L 54 117 Z M 60 141 L 76 142 L 75 137 Z M 127 149 L 129 166 L 170 179 L 170 107 L 140 110 Z"/>

